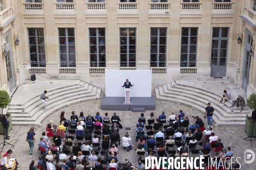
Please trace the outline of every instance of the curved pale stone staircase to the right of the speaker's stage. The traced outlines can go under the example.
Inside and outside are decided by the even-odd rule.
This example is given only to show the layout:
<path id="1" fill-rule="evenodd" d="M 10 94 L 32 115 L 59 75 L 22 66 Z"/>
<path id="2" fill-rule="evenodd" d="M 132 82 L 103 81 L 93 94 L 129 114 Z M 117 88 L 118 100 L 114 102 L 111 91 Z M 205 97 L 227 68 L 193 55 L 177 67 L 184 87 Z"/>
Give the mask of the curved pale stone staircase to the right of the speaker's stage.
<path id="1" fill-rule="evenodd" d="M 192 107 L 201 113 L 205 112 L 207 103 L 210 102 L 215 109 L 213 113 L 213 121 L 218 125 L 245 125 L 246 114 L 249 114 L 248 107 L 245 103 L 243 111 L 240 112 L 239 108 L 230 108 L 232 100 L 236 97 L 232 96 L 232 99 L 225 102 L 224 106 L 217 104 L 221 98 L 221 94 L 217 91 L 210 91 L 202 86 L 191 86 L 186 83 L 182 83 L 180 80 L 163 85 L 162 87 L 155 89 L 156 99 L 175 102 L 181 105 Z M 195 116 L 198 113 L 194 113 Z M 203 117 L 203 115 L 198 115 Z"/>

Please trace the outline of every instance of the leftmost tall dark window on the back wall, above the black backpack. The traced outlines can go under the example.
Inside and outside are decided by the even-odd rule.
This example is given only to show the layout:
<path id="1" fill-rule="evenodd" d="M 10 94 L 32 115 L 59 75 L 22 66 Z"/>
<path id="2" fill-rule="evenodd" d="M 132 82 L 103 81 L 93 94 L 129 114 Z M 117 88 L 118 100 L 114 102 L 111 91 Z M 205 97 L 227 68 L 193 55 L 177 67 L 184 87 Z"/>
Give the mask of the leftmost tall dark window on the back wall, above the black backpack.
<path id="1" fill-rule="evenodd" d="M 44 28 L 28 28 L 29 56 L 32 67 L 45 67 Z"/>

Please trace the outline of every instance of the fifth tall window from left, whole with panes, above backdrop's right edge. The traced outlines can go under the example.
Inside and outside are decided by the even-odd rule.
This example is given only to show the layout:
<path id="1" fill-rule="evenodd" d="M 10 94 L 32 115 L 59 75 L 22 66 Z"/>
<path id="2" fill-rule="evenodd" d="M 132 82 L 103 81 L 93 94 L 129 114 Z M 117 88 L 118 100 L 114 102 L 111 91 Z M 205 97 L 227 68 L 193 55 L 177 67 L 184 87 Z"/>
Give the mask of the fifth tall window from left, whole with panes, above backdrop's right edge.
<path id="1" fill-rule="evenodd" d="M 151 28 L 150 67 L 166 67 L 167 28 Z"/>

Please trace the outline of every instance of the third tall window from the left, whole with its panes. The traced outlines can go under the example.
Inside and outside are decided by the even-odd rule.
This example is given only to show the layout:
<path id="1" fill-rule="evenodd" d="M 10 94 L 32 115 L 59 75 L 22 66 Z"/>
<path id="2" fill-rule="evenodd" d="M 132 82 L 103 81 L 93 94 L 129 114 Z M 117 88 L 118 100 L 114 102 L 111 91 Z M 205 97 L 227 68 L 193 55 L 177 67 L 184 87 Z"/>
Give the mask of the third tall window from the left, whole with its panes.
<path id="1" fill-rule="evenodd" d="M 90 66 L 106 67 L 105 28 L 90 29 Z"/>

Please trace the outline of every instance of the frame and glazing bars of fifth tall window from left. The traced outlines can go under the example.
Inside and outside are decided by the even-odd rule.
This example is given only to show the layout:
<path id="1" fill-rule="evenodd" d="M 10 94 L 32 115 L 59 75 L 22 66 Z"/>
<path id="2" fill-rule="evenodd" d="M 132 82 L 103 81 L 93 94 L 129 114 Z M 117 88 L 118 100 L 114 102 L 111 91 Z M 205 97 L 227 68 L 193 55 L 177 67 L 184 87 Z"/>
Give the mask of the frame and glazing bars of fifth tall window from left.
<path id="1" fill-rule="evenodd" d="M 156 37 L 156 36 L 152 36 L 151 35 L 151 31 L 152 29 L 151 28 L 157 28 L 157 53 L 151 53 L 151 38 L 152 37 Z M 167 51 L 167 28 L 166 27 L 151 27 L 150 28 L 150 67 L 155 67 L 155 66 L 151 66 L 151 54 L 157 54 L 157 67 L 166 67 L 166 51 Z M 166 36 L 160 36 L 160 28 L 165 28 L 166 29 Z M 166 50 L 165 50 L 165 53 L 160 53 L 160 37 L 166 37 L 166 43 L 165 43 L 165 46 L 166 46 Z M 155 45 L 155 44 L 153 44 Z M 159 66 L 159 63 L 163 63 L 163 62 L 160 62 L 159 61 L 159 56 L 160 54 L 165 54 L 165 65 L 164 66 Z"/>

